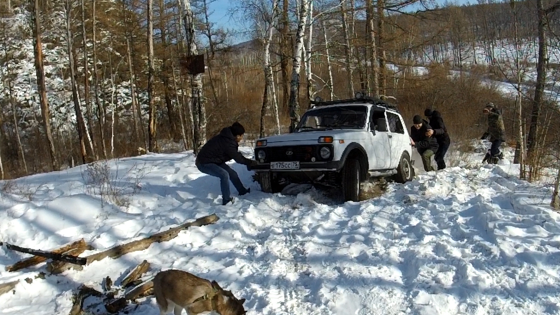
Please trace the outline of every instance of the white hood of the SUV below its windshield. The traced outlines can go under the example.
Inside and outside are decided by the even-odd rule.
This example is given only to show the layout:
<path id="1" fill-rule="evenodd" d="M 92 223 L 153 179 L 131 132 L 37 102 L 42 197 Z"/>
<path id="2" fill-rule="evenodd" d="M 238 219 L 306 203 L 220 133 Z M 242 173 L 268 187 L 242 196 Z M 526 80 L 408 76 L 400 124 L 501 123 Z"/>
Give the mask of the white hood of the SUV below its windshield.
<path id="1" fill-rule="evenodd" d="M 365 139 L 367 131 L 361 129 L 334 129 L 286 133 L 284 135 L 270 136 L 263 139 L 267 140 L 267 145 L 279 142 L 304 142 L 317 141 L 322 136 L 332 136 L 334 140 L 357 140 Z"/>

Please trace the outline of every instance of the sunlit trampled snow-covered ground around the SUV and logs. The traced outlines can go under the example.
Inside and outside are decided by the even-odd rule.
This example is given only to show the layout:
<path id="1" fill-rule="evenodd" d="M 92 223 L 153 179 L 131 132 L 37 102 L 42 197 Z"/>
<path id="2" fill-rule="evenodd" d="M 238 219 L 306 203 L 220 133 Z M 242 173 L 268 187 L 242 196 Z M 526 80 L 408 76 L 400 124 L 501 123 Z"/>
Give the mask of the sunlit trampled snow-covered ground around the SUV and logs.
<path id="1" fill-rule="evenodd" d="M 45 279 L 35 279 L 44 263 L 4 271 L 29 255 L 2 247 L 0 284 L 20 282 L 0 296 L 0 313 L 66 315 L 80 284 L 102 290 L 106 276 L 118 282 L 147 260 L 148 277 L 179 268 L 218 281 L 247 299 L 248 314 L 557 314 L 560 215 L 547 206 L 550 189 L 516 179 L 517 165 L 483 166 L 481 156 L 465 164 L 462 155 L 465 168 L 424 172 L 359 203 L 314 188 L 263 193 L 245 166 L 232 163 L 251 193 L 222 206 L 218 180 L 198 172 L 191 152 L 111 162 L 128 207 L 101 206 L 96 186 L 86 188 L 102 168 L 0 182 L 0 241 L 52 249 L 83 237 L 95 249 L 81 256 L 220 216 L 144 251 Z M 159 314 L 153 297 L 139 302 L 128 314 Z M 102 305 L 92 312 L 104 313 Z"/>

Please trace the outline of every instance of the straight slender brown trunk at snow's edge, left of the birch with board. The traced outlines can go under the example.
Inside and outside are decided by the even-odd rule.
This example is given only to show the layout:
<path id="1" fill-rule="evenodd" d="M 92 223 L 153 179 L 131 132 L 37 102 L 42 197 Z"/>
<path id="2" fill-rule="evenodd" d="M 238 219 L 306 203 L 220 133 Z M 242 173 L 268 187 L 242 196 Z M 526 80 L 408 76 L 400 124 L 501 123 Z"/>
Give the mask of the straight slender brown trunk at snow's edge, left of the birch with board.
<path id="1" fill-rule="evenodd" d="M 148 150 L 157 151 L 156 143 L 156 105 L 153 101 L 153 76 L 155 75 L 153 63 L 153 0 L 148 0 Z"/>

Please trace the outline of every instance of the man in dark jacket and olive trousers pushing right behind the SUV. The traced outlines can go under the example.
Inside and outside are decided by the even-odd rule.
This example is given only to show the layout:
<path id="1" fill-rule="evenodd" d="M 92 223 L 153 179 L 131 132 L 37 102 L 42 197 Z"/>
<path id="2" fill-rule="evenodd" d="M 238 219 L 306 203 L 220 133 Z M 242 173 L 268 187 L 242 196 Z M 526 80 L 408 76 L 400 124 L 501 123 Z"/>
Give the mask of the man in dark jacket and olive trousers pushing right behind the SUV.
<path id="1" fill-rule="evenodd" d="M 416 150 L 420 156 L 422 156 L 422 164 L 424 164 L 424 170 L 430 172 L 431 170 L 436 170 L 432 166 L 432 156 L 436 154 L 439 145 L 435 137 L 427 136 L 428 130 L 433 128 L 424 121 L 420 115 L 414 116 L 412 120 L 413 126 L 410 127 L 410 138 L 412 138 L 412 145 L 416 146 Z"/>

